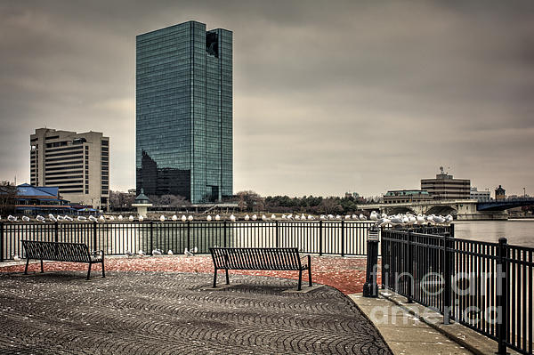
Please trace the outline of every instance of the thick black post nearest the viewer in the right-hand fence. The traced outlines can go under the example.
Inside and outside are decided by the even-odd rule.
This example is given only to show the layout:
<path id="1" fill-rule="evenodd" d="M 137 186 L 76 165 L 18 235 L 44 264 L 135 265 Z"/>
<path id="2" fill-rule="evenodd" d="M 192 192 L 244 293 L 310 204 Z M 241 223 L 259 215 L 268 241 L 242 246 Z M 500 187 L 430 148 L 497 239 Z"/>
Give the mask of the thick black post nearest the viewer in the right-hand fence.
<path id="1" fill-rule="evenodd" d="M 497 249 L 497 342 L 498 354 L 506 354 L 506 338 L 508 334 L 508 248 L 506 238 L 498 239 Z"/>

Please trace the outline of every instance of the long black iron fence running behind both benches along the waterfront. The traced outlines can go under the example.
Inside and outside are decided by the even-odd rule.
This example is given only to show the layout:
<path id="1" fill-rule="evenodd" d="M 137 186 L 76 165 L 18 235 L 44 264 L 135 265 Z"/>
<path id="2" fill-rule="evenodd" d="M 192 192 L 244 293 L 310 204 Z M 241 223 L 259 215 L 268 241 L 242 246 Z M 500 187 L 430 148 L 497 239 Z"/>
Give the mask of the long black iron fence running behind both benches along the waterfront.
<path id="1" fill-rule="evenodd" d="M 24 257 L 20 240 L 85 243 L 106 254 L 182 254 L 210 246 L 298 247 L 303 253 L 365 255 L 373 222 L 0 222 L 0 262 Z"/>

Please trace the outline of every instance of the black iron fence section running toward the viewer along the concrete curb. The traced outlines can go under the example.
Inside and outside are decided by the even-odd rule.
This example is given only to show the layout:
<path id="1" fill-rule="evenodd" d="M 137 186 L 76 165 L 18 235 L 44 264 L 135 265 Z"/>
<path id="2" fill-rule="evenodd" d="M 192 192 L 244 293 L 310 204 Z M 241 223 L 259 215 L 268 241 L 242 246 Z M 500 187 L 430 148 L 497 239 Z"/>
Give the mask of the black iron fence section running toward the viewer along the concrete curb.
<path id="1" fill-rule="evenodd" d="M 497 341 L 499 354 L 532 354 L 534 248 L 451 237 L 383 230 L 382 286 Z"/>

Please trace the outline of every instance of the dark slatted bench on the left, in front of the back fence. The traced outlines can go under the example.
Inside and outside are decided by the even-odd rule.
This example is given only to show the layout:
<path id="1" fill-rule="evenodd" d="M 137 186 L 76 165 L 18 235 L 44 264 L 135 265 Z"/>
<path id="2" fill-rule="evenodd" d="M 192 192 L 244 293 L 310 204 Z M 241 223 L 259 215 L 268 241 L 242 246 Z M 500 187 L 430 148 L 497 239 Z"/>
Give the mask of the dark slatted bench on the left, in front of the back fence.
<path id="1" fill-rule="evenodd" d="M 22 240 L 22 247 L 26 254 L 26 269 L 24 274 L 28 274 L 29 259 L 41 261 L 41 272 L 43 270 L 43 260 L 53 260 L 55 262 L 85 262 L 89 264 L 87 279 L 91 276 L 91 266 L 93 263 L 102 264 L 102 278 L 106 277 L 104 271 L 104 252 L 89 252 L 89 248 L 83 243 L 58 243 L 41 242 L 34 240 Z"/>

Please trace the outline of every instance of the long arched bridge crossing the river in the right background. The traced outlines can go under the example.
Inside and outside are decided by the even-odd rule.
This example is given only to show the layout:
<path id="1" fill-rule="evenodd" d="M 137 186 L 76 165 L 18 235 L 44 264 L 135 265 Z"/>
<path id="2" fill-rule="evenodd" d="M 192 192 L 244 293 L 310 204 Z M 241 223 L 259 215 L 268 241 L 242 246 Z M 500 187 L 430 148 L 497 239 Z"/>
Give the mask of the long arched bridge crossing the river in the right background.
<path id="1" fill-rule="evenodd" d="M 458 220 L 506 220 L 509 208 L 534 205 L 534 198 L 510 198 L 479 202 L 475 199 L 432 200 L 397 204 L 358 205 L 365 211 L 380 211 L 386 214 L 454 214 Z"/>

